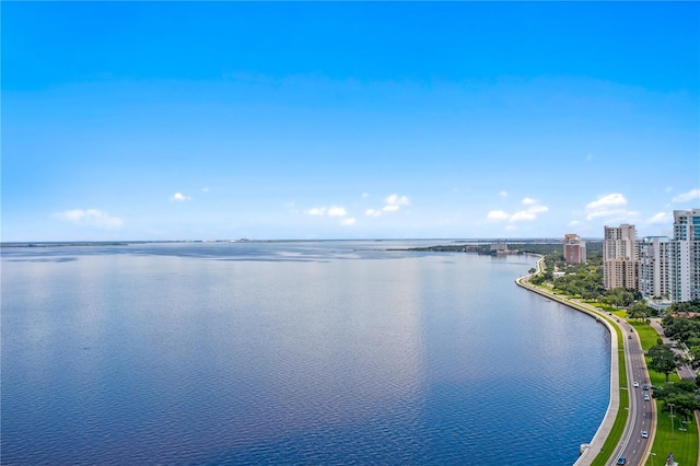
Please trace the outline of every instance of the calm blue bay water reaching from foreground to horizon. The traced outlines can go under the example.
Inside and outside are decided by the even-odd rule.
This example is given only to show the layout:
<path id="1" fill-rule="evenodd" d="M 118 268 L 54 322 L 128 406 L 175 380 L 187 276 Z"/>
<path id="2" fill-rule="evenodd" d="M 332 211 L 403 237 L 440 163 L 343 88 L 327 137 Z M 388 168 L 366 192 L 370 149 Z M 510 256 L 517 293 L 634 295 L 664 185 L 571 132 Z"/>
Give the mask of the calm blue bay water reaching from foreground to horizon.
<path id="1" fill-rule="evenodd" d="M 406 245 L 3 248 L 2 464 L 572 464 L 604 327 Z"/>

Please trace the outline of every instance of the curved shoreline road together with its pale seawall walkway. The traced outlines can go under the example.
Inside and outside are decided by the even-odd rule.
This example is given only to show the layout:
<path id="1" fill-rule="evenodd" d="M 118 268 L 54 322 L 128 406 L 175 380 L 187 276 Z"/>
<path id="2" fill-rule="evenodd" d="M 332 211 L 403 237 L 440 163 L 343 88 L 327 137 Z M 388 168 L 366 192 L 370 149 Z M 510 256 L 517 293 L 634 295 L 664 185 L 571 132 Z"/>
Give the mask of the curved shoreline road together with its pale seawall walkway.
<path id="1" fill-rule="evenodd" d="M 541 260 L 537 263 L 538 271 L 541 271 L 540 263 Z M 651 445 L 654 443 L 654 433 L 656 430 L 656 404 L 651 399 L 651 391 L 643 389 L 644 385 L 650 385 L 649 372 L 646 371 L 644 352 L 642 351 L 637 331 L 634 331 L 633 327 L 623 319 L 617 319 L 611 315 L 605 314 L 597 307 L 529 284 L 529 276 L 522 277 L 517 280 L 517 283 L 528 290 L 535 291 L 570 307 L 587 312 L 588 314 L 596 316 L 596 318 L 607 318 L 608 323 L 617 325 L 622 330 L 625 360 L 627 365 L 627 387 L 620 388 L 627 388 L 629 391 L 629 417 L 620 442 L 606 464 L 616 465 L 619 457 L 625 457 L 628 465 L 643 465 L 646 461 L 646 456 L 649 455 Z M 611 319 L 615 322 L 611 322 Z M 611 377 L 616 377 L 617 373 L 612 373 L 610 375 Z M 634 387 L 635 382 L 639 387 Z M 650 400 L 645 400 L 644 395 L 648 395 Z M 604 432 L 604 435 L 607 435 L 609 432 L 611 424 L 615 422 L 617 410 L 619 409 L 619 394 L 617 391 L 612 389 L 610 397 L 610 408 L 608 408 L 606 418 L 603 420 L 600 429 L 598 430 L 598 432 Z M 648 431 L 649 438 L 642 438 L 642 431 Z M 605 442 L 605 438 L 598 439 L 597 435 L 598 433 L 596 433 L 596 436 L 591 444 L 592 450 L 594 447 L 600 448 Z M 588 452 L 588 454 L 582 456 L 580 461 L 576 462 L 576 466 L 590 465 L 595 458 L 596 453 L 597 451 Z"/>

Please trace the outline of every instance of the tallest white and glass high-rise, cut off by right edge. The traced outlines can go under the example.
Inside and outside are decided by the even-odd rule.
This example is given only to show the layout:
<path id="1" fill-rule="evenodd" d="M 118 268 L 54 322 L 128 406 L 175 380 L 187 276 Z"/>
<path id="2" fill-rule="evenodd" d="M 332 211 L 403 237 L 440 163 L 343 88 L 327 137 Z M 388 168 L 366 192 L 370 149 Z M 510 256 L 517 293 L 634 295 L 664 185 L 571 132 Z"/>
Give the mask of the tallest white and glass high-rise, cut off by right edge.
<path id="1" fill-rule="evenodd" d="M 669 275 L 672 301 L 700 300 L 700 209 L 674 210 Z"/>

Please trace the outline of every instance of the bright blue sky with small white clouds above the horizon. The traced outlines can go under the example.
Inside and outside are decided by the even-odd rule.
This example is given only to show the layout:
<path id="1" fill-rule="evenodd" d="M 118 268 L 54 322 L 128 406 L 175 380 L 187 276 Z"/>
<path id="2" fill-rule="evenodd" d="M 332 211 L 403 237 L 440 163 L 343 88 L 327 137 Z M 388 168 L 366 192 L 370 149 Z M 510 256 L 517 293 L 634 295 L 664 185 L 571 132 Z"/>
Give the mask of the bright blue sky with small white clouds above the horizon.
<path id="1" fill-rule="evenodd" d="M 670 234 L 698 2 L 2 2 L 2 241 Z"/>

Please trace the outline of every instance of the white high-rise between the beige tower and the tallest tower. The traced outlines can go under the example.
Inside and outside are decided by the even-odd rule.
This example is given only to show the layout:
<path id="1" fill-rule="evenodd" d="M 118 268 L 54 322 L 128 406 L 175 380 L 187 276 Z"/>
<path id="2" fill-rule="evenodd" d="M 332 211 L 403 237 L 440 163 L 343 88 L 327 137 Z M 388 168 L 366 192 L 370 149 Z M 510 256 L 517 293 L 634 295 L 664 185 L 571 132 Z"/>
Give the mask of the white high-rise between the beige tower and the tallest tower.
<path id="1" fill-rule="evenodd" d="M 639 244 L 639 291 L 644 298 L 670 298 L 670 240 L 646 236 Z"/>

